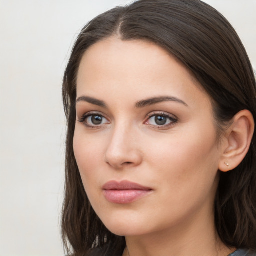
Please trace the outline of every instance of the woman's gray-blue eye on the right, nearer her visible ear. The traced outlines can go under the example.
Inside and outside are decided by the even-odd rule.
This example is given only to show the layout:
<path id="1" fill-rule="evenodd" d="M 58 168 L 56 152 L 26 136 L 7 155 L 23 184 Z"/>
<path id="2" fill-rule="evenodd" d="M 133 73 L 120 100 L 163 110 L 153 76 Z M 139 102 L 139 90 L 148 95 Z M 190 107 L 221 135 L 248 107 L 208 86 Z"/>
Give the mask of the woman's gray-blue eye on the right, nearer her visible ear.
<path id="1" fill-rule="evenodd" d="M 150 124 L 158 127 L 168 127 L 177 122 L 177 118 L 166 113 L 152 113 L 148 115 L 145 124 Z"/>

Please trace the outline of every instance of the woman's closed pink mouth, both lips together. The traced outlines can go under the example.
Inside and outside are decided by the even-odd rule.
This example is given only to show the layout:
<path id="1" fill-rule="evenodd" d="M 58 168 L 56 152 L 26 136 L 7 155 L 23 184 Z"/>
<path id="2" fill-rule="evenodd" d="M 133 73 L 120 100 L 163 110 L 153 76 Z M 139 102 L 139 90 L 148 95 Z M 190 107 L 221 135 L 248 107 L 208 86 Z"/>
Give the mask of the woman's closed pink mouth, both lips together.
<path id="1" fill-rule="evenodd" d="M 103 194 L 109 202 L 131 203 L 151 193 L 152 188 L 123 180 L 121 182 L 111 180 L 102 187 Z"/>

